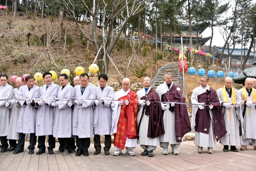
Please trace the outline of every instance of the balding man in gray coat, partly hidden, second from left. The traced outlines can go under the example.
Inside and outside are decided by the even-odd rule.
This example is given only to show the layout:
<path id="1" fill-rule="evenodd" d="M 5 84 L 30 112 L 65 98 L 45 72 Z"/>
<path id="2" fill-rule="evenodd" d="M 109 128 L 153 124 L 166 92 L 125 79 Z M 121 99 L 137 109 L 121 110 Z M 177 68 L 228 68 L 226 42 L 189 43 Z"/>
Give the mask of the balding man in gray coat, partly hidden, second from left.
<path id="1" fill-rule="evenodd" d="M 21 86 L 24 85 L 24 80 L 22 77 L 18 77 L 15 80 L 15 86 L 13 98 L 17 98 L 19 89 Z M 12 99 L 10 102 L 6 102 L 7 105 L 9 105 L 9 108 L 11 108 L 11 116 L 10 116 L 10 122 L 9 122 L 9 128 L 8 128 L 8 135 L 7 139 L 9 139 L 10 147 L 7 148 L 7 151 L 14 151 L 17 147 L 17 140 L 19 139 L 19 133 L 17 133 L 17 121 L 19 117 L 19 111 L 20 111 L 20 105 L 18 101 L 15 99 Z"/>

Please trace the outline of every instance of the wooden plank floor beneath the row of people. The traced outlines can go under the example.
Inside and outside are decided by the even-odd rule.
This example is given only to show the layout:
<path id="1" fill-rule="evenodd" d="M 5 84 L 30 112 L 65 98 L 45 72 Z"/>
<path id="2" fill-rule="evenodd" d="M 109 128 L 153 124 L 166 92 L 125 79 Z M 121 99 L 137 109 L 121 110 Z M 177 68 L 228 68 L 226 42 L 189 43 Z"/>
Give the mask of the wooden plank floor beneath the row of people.
<path id="1" fill-rule="evenodd" d="M 27 147 L 29 142 L 25 142 Z M 102 147 L 104 144 L 102 144 Z M 217 143 L 214 154 L 197 153 L 193 141 L 183 142 L 179 155 L 173 155 L 169 148 L 169 155 L 162 154 L 162 148 L 157 147 L 154 157 L 141 156 L 144 150 L 137 146 L 136 156 L 123 154 L 113 156 L 113 144 L 109 156 L 102 153 L 93 155 L 93 144 L 89 148 L 89 156 L 76 157 L 75 153 L 67 156 L 62 154 L 41 155 L 28 154 L 25 148 L 23 153 L 0 153 L 0 171 L 256 171 L 256 151 L 249 146 L 247 151 L 223 152 L 223 146 Z M 237 147 L 239 148 L 239 147 Z M 58 150 L 58 143 L 55 150 Z M 38 148 L 35 148 L 35 152 Z"/>

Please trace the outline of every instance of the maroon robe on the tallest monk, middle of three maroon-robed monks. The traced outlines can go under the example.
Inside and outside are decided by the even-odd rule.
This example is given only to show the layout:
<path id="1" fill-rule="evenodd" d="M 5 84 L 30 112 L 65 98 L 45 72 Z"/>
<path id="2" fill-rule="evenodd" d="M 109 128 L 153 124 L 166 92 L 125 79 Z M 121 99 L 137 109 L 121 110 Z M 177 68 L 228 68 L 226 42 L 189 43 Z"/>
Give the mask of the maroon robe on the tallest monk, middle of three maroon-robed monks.
<path id="1" fill-rule="evenodd" d="M 180 88 L 175 84 L 167 93 L 162 95 L 162 103 L 165 101 L 185 103 Z M 175 113 L 176 142 L 181 142 L 181 137 L 191 131 L 188 110 L 185 104 L 175 104 L 174 107 L 170 104 L 169 110 Z"/>

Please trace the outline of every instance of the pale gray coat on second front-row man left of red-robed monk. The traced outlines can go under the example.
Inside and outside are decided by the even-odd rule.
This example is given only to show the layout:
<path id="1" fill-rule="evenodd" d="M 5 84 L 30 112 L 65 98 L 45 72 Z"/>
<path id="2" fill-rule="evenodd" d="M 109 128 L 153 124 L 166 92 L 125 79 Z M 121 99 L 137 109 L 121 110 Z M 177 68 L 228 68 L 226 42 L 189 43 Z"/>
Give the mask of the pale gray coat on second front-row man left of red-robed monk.
<path id="1" fill-rule="evenodd" d="M 95 89 L 89 84 L 85 87 L 83 95 L 81 94 L 81 85 L 74 87 L 74 96 L 76 99 L 83 100 L 81 105 L 75 104 L 73 110 L 73 135 L 79 138 L 90 138 L 93 136 L 93 104 L 95 99 Z"/>

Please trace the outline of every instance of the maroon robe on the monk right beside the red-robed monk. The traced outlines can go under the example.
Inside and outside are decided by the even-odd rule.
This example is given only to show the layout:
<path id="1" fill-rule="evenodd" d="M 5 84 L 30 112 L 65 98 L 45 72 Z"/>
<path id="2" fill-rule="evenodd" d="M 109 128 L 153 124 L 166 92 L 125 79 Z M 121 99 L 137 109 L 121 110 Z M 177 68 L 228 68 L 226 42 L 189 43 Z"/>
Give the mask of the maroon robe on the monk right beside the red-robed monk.
<path id="1" fill-rule="evenodd" d="M 164 134 L 164 126 L 163 126 L 163 114 L 162 114 L 162 108 L 161 103 L 154 102 L 154 101 L 160 101 L 160 98 L 154 89 L 150 89 L 146 96 L 143 96 L 141 100 L 150 101 L 150 105 L 145 105 L 143 107 L 142 116 L 149 115 L 149 121 L 148 121 L 148 137 L 149 138 L 156 138 L 157 136 Z M 139 133 L 138 128 L 138 133 Z"/>

